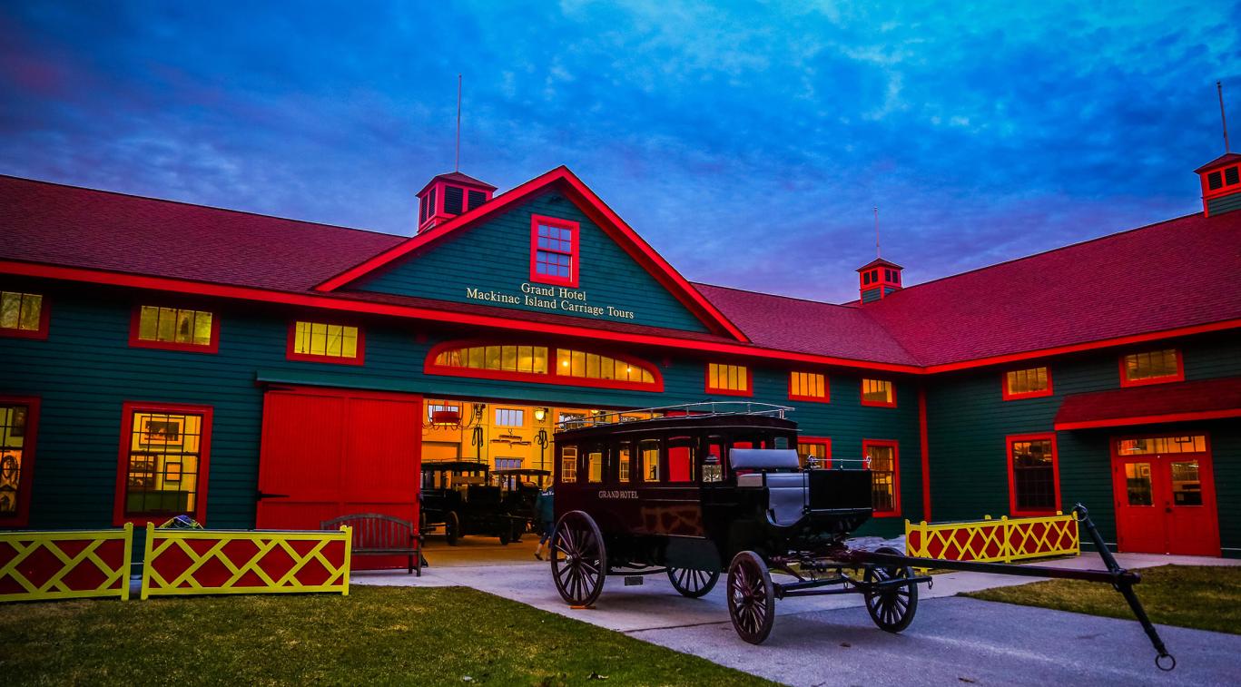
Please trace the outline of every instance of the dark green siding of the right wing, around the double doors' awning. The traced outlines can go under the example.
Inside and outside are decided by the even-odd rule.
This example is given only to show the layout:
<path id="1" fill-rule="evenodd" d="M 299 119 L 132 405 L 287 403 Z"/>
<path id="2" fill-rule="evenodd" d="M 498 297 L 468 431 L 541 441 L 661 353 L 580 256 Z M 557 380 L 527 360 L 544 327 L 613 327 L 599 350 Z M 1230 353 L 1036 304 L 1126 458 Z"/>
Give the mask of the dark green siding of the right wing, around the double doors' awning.
<path id="1" fill-rule="evenodd" d="M 1241 342 L 1235 334 L 1203 335 L 1173 342 L 1181 348 L 1186 379 L 1241 375 Z M 1163 344 L 1152 345 L 1152 347 Z M 1008 453 L 1010 434 L 1051 432 L 1065 396 L 1121 387 L 1118 351 L 1061 356 L 1050 361 L 1055 396 L 1003 401 L 1000 375 L 1035 367 L 1016 363 L 984 371 L 936 376 L 927 387 L 931 505 L 936 521 L 973 520 L 1009 513 Z M 1235 420 L 1056 433 L 1061 510 L 1085 503 L 1107 542 L 1116 541 L 1109 439 L 1127 434 L 1186 433 L 1210 435 L 1220 539 L 1241 554 L 1241 430 Z M 1225 554 L 1229 554 L 1225 551 Z"/>

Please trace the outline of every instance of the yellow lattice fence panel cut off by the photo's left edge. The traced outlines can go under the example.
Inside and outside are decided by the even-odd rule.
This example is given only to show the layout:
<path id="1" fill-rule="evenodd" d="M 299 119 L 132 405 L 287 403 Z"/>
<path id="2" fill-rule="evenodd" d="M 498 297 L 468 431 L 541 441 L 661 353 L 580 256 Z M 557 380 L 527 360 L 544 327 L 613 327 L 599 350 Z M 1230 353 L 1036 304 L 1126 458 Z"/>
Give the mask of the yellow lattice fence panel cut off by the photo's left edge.
<path id="1" fill-rule="evenodd" d="M 0 532 L 0 601 L 129 599 L 134 528 Z"/>

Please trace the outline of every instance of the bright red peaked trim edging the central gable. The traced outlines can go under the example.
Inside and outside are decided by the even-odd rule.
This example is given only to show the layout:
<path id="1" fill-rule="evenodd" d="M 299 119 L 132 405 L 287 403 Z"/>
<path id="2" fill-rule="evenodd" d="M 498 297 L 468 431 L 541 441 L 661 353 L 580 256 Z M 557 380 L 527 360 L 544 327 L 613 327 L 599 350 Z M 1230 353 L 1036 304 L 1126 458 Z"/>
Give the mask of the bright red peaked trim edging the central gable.
<path id="1" fill-rule="evenodd" d="M 573 203 L 578 206 L 582 212 L 587 215 L 599 228 L 607 233 L 612 241 L 614 241 L 620 248 L 625 250 L 634 260 L 638 262 L 656 281 L 678 300 L 685 305 L 690 312 L 697 316 L 709 329 L 716 334 L 725 334 L 735 337 L 738 341 L 747 341 L 745 332 L 737 329 L 728 319 L 707 299 L 702 298 L 690 283 L 676 272 L 673 265 L 668 263 L 654 248 L 650 247 L 637 232 L 634 232 L 629 224 L 627 224 L 620 217 L 612 211 L 602 198 L 594 195 L 582 180 L 568 171 L 568 167 L 561 165 L 544 175 L 536 176 L 530 181 L 495 196 L 489 202 L 485 202 L 474 210 L 470 210 L 463 215 L 458 215 L 452 219 L 437 224 L 417 236 L 406 239 L 398 246 L 393 246 L 382 253 L 370 257 L 366 260 L 334 275 L 315 286 L 320 291 L 334 291 L 356 281 L 369 274 L 383 269 L 386 265 L 392 264 L 395 260 L 406 258 L 407 255 L 413 255 L 419 250 L 427 249 L 436 243 L 439 243 L 444 238 L 453 236 L 462 231 L 468 231 L 469 227 L 477 226 L 478 222 L 494 217 L 515 207 L 517 203 L 532 197 L 536 193 L 555 188 L 565 193 Z"/>

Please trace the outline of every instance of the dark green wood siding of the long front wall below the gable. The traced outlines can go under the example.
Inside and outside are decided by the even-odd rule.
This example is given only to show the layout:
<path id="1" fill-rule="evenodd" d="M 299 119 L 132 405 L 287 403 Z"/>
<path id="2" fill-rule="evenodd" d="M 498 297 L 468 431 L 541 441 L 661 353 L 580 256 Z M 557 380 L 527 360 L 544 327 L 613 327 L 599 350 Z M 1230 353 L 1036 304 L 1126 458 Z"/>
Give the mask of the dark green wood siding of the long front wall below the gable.
<path id="1" fill-rule="evenodd" d="M 705 358 L 666 357 L 652 348 L 628 352 L 659 366 L 664 393 L 423 376 L 429 348 L 449 337 L 427 325 L 396 320 L 360 322 L 366 331 L 366 363 L 361 367 L 287 361 L 285 337 L 294 314 L 241 304 L 196 304 L 220 317 L 217 353 L 132 348 L 132 306 L 149 298 L 108 288 L 25 286 L 51 296 L 50 336 L 47 341 L 0 339 L 0 393 L 42 399 L 31 527 L 110 526 L 122 404 L 127 401 L 215 409 L 206 523 L 247 528 L 254 526 L 262 430 L 263 389 L 257 378 L 585 407 L 653 407 L 711 398 L 704 391 Z M 168 301 L 166 296 L 159 300 Z M 450 339 L 470 335 L 460 332 Z M 830 437 L 834 456 L 860 458 L 862 439 L 900 441 L 903 513 L 921 517 L 915 387 L 898 379 L 897 408 L 867 408 L 859 402 L 858 377 L 831 373 L 829 379 L 830 404 L 791 402 L 788 370 L 758 367 L 753 401 L 797 407 L 791 417 L 804 434 Z M 864 533 L 891 536 L 900 531 L 901 518 L 881 518 Z"/>

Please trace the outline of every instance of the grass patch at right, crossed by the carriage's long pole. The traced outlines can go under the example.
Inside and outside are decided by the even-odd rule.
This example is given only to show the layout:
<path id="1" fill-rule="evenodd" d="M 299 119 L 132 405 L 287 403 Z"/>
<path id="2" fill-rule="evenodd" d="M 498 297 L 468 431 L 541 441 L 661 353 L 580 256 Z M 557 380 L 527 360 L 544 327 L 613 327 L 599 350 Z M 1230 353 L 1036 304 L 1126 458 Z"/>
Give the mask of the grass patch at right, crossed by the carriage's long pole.
<path id="1" fill-rule="evenodd" d="M 1241 635 L 1241 568 L 1162 565 L 1138 570 L 1134 585 L 1150 620 L 1164 625 Z M 1056 579 L 963 594 L 987 601 L 1042 606 L 1133 619 L 1124 598 L 1108 584 Z"/>

